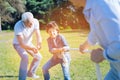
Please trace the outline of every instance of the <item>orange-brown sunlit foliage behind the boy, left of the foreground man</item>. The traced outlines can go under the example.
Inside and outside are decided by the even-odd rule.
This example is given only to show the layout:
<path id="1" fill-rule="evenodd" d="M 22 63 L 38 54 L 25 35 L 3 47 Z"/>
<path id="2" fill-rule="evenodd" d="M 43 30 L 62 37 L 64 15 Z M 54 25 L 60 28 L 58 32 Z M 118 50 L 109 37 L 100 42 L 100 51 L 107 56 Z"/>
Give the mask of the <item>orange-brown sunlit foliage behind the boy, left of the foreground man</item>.
<path id="1" fill-rule="evenodd" d="M 83 8 L 75 9 L 70 2 L 65 2 L 52 11 L 51 20 L 56 21 L 64 29 L 69 28 L 69 26 L 72 29 L 88 28 L 89 25 L 82 10 Z"/>

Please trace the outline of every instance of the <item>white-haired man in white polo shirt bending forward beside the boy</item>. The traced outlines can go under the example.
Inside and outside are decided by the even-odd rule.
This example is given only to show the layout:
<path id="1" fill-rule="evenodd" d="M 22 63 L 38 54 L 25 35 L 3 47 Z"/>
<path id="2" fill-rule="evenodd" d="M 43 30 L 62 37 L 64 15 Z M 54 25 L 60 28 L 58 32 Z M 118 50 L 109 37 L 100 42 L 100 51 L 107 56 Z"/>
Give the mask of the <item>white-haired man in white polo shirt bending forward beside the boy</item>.
<path id="1" fill-rule="evenodd" d="M 32 35 L 36 34 L 36 46 L 32 44 Z M 39 21 L 34 18 L 31 12 L 22 14 L 22 19 L 19 20 L 14 27 L 13 46 L 21 58 L 19 68 L 19 80 L 26 80 L 26 77 L 39 78 L 35 74 L 42 58 L 38 50 L 41 48 L 41 35 L 39 30 Z M 28 53 L 33 57 L 29 70 Z"/>

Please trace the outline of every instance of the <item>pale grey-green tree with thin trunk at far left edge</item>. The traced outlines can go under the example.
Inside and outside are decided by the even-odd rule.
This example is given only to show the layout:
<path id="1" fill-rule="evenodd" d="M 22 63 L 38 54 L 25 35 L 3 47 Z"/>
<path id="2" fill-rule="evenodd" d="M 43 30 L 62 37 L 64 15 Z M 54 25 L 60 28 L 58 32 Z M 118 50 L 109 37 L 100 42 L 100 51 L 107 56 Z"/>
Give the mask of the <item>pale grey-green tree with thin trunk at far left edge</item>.
<path id="1" fill-rule="evenodd" d="M 3 21 L 9 22 L 14 20 L 11 15 L 12 13 L 22 13 L 25 11 L 24 1 L 25 0 L 0 0 L 0 31 Z"/>

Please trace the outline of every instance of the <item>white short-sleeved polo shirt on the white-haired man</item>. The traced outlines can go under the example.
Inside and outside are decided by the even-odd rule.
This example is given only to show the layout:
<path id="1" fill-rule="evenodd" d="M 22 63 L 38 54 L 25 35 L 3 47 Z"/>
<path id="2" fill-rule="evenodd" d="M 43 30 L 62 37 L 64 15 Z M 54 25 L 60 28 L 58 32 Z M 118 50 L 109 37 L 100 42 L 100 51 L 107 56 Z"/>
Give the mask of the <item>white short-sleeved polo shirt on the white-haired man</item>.
<path id="1" fill-rule="evenodd" d="M 18 21 L 15 24 L 14 27 L 14 40 L 13 40 L 13 44 L 19 44 L 18 40 L 17 40 L 17 36 L 21 35 L 23 38 L 23 42 L 25 44 L 30 44 L 32 41 L 32 34 L 34 33 L 34 31 L 36 29 L 39 29 L 39 21 L 37 19 L 34 19 L 33 25 L 31 28 L 27 28 L 23 21 Z"/>

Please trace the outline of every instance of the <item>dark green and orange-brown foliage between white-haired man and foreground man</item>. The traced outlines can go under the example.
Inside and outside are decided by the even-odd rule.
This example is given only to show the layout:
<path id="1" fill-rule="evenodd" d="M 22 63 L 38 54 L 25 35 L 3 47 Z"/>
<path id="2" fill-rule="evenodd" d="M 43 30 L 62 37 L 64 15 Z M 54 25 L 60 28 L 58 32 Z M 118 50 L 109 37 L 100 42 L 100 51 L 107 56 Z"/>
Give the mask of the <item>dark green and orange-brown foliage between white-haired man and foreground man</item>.
<path id="1" fill-rule="evenodd" d="M 27 0 L 26 7 L 40 19 L 43 29 L 51 20 L 56 21 L 61 29 L 88 28 L 82 8 L 76 10 L 68 0 Z"/>

